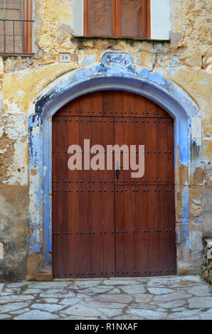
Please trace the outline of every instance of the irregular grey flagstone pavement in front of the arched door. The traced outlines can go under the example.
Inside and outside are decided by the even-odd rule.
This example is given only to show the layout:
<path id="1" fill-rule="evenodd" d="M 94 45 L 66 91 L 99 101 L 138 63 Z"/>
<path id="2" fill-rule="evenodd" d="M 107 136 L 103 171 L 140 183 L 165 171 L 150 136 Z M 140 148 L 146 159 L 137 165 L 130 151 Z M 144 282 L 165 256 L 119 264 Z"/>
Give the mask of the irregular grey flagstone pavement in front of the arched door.
<path id="1" fill-rule="evenodd" d="M 0 284 L 0 319 L 212 319 L 199 276 Z"/>

